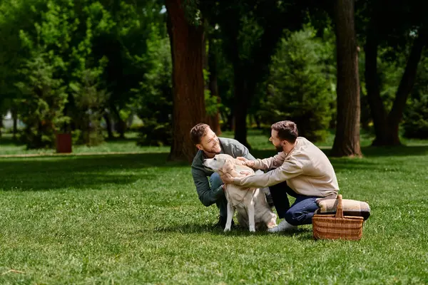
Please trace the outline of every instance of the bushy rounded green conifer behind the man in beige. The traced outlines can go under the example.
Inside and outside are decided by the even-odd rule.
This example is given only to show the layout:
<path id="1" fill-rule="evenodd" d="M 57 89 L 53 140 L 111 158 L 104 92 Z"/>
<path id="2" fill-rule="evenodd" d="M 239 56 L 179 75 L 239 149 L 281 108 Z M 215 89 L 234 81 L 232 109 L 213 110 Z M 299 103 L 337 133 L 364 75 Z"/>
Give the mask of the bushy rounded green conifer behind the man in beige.
<path id="1" fill-rule="evenodd" d="M 326 65 L 332 44 L 306 28 L 284 38 L 272 58 L 267 99 L 260 116 L 268 125 L 293 120 L 300 135 L 324 140 L 335 102 L 334 68 Z"/>

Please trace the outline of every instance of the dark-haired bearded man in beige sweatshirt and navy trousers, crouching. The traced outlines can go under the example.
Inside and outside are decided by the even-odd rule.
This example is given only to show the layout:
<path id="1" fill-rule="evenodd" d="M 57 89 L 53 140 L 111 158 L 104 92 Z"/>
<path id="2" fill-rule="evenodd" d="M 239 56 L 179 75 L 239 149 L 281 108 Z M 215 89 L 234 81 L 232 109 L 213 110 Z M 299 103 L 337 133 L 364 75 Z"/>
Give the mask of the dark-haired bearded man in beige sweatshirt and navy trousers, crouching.
<path id="1" fill-rule="evenodd" d="M 225 174 L 221 178 L 225 183 L 243 187 L 270 187 L 278 217 L 284 220 L 269 232 L 282 232 L 312 224 L 312 216 L 318 209 L 317 199 L 335 198 L 339 186 L 330 160 L 312 142 L 298 136 L 295 123 L 284 120 L 273 124 L 271 129 L 269 140 L 277 155 L 264 160 L 238 157 L 249 167 L 270 171 L 235 178 Z M 296 198 L 291 207 L 287 193 Z"/>

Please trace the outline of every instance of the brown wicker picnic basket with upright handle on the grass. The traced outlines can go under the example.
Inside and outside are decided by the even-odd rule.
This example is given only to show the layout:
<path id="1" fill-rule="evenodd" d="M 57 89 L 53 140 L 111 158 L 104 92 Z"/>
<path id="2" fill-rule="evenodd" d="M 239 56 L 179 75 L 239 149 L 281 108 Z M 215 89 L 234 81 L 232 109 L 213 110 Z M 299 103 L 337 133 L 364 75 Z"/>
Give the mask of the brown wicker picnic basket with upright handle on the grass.
<path id="1" fill-rule="evenodd" d="M 363 217 L 343 216 L 342 195 L 337 195 L 336 214 L 314 214 L 312 232 L 315 239 L 350 239 L 362 237 Z"/>

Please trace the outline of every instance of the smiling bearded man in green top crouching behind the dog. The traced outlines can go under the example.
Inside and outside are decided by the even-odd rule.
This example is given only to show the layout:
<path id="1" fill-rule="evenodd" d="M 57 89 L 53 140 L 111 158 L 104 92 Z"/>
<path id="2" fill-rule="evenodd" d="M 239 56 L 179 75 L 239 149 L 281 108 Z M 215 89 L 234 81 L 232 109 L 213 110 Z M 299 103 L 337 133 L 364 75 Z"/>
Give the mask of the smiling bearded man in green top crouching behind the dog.
<path id="1" fill-rule="evenodd" d="M 248 148 L 238 140 L 218 138 L 210 126 L 203 123 L 195 125 L 190 130 L 190 138 L 198 148 L 198 152 L 192 162 L 192 176 L 198 197 L 206 207 L 214 203 L 217 205 L 220 209 L 220 217 L 216 225 L 225 227 L 228 200 L 225 197 L 224 183 L 218 173 L 207 170 L 203 166 L 203 160 L 213 158 L 220 153 L 232 155 L 233 157 L 245 157 L 247 160 L 255 160 L 255 158 L 250 154 Z M 267 190 L 263 191 L 267 194 L 267 202 L 270 202 L 270 197 L 266 193 Z"/>

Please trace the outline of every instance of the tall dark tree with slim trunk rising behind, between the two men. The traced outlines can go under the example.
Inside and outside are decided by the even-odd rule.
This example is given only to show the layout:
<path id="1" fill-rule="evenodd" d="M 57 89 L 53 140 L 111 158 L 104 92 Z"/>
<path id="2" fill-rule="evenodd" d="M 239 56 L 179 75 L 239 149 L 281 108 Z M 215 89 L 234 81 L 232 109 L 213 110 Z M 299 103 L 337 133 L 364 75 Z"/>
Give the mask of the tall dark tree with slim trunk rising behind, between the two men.
<path id="1" fill-rule="evenodd" d="M 252 0 L 218 1 L 218 5 L 209 8 L 204 11 L 219 24 L 223 49 L 233 66 L 235 139 L 250 147 L 247 115 L 257 84 L 269 73 L 271 56 L 284 28 L 294 30 L 302 26 L 305 6 L 293 0 Z"/>

